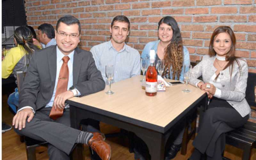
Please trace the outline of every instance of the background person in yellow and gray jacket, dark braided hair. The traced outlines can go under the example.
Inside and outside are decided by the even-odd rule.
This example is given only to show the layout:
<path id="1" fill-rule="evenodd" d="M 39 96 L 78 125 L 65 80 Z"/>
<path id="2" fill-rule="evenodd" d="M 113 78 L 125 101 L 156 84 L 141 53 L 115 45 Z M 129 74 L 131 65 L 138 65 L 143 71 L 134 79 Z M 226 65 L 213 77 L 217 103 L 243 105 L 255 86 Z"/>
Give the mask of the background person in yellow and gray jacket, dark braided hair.
<path id="1" fill-rule="evenodd" d="M 30 57 L 38 48 L 33 44 L 33 35 L 28 27 L 21 26 L 14 31 L 14 43 L 16 47 L 6 52 L 2 61 L 2 78 L 8 78 L 12 73 L 17 79 L 17 70 L 27 72 Z M 16 80 L 17 84 L 17 80 Z M 10 94 L 7 100 L 8 105 L 16 113 L 16 107 L 19 106 L 19 92 L 15 88 L 15 92 Z"/>

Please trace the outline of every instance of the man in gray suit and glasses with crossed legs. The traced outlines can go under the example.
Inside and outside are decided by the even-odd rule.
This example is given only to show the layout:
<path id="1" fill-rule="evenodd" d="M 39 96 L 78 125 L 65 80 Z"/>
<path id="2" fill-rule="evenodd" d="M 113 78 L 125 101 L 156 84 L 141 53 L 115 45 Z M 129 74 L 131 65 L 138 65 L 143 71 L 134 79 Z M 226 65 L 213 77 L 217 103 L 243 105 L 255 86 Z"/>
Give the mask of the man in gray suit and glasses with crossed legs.
<path id="1" fill-rule="evenodd" d="M 110 146 L 100 133 L 70 127 L 69 106 L 65 100 L 98 92 L 105 87 L 92 53 L 77 48 L 80 32 L 80 22 L 74 16 L 58 20 L 55 31 L 57 45 L 32 55 L 20 92 L 18 112 L 13 117 L 12 125 L 17 133 L 49 143 L 51 160 L 68 160 L 76 143 L 88 144 L 101 159 L 110 159 Z M 68 72 L 65 70 L 67 78 L 60 76 L 64 65 L 68 66 Z M 66 79 L 68 91 L 58 91 L 62 79 Z M 52 119 L 49 117 L 51 110 L 63 111 L 63 115 Z"/>

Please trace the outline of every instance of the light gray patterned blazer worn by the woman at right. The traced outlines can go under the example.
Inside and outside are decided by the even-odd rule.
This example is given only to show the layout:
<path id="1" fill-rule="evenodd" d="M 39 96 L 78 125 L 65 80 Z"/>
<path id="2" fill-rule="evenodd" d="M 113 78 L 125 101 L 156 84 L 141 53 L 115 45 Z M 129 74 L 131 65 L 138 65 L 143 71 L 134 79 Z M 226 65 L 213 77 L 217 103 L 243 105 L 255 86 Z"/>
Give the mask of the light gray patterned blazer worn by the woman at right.
<path id="1" fill-rule="evenodd" d="M 190 84 L 196 86 L 201 80 L 197 79 L 202 76 L 204 83 L 209 83 L 212 75 L 217 71 L 213 66 L 214 57 L 205 55 L 202 61 L 197 64 L 191 71 Z M 232 77 L 230 81 L 230 67 L 220 71 L 220 83 L 221 83 L 221 99 L 227 100 L 227 102 L 236 109 L 236 111 L 242 116 L 246 116 L 251 112 L 251 108 L 245 100 L 245 90 L 248 77 L 248 66 L 245 60 L 238 59 L 241 69 L 236 61 L 233 64 Z M 241 72 L 240 72 L 241 71 Z M 197 87 L 197 86 L 196 86 Z"/>

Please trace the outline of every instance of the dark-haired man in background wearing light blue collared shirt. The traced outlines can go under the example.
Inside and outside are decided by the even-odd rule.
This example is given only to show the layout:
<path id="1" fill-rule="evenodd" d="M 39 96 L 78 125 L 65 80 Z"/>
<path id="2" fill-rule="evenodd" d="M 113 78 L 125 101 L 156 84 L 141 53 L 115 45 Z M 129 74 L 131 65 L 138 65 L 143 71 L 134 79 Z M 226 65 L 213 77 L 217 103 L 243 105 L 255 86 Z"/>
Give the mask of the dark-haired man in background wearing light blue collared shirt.
<path id="1" fill-rule="evenodd" d="M 38 39 L 43 48 L 56 45 L 54 28 L 49 23 L 41 24 L 38 28 Z"/>

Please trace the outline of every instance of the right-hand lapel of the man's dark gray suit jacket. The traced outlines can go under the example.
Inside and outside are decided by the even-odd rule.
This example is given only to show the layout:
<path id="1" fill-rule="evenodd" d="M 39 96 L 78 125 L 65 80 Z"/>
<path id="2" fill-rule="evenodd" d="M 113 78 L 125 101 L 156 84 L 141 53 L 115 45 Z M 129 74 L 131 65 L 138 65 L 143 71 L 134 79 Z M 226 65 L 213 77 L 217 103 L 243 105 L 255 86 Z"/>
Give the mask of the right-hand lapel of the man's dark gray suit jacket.
<path id="1" fill-rule="evenodd" d="M 75 49 L 74 60 L 73 60 L 73 85 L 77 84 L 81 64 L 82 64 L 81 53 L 77 52 L 77 49 Z"/>

